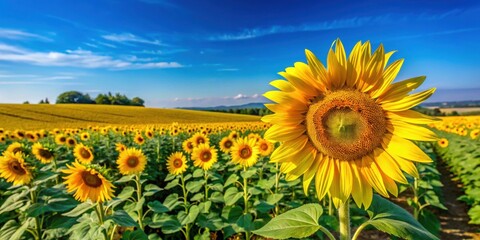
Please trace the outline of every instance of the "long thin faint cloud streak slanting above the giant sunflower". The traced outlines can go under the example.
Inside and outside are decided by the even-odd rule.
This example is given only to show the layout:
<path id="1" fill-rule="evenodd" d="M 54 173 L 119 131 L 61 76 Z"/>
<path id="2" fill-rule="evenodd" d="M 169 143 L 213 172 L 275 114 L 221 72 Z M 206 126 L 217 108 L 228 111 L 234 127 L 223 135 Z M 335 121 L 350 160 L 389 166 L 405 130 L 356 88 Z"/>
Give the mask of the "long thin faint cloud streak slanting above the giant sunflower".
<path id="1" fill-rule="evenodd" d="M 413 21 L 438 21 L 451 16 L 460 14 L 462 11 L 453 9 L 443 13 L 421 13 L 421 14 L 385 14 L 380 16 L 352 17 L 336 19 L 331 21 L 322 21 L 317 23 L 301 25 L 274 25 L 270 27 L 246 28 L 239 32 L 215 34 L 207 37 L 209 41 L 235 41 L 258 38 L 262 36 L 295 33 L 295 32 L 315 32 L 334 29 L 357 28 L 366 25 L 386 25 L 390 23 Z"/>

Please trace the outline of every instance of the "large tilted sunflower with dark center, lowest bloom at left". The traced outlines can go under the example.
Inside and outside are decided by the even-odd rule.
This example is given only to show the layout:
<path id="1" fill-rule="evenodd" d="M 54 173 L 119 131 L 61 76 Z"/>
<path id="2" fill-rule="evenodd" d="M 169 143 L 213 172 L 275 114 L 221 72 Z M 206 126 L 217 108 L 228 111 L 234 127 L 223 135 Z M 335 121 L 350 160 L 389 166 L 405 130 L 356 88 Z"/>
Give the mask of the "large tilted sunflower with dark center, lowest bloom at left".
<path id="1" fill-rule="evenodd" d="M 73 196 L 81 202 L 105 202 L 113 197 L 113 184 L 94 168 L 86 167 L 79 162 L 73 166 L 67 165 L 68 169 L 62 170 L 68 174 L 63 177 L 67 185 L 67 192 L 75 192 Z"/>

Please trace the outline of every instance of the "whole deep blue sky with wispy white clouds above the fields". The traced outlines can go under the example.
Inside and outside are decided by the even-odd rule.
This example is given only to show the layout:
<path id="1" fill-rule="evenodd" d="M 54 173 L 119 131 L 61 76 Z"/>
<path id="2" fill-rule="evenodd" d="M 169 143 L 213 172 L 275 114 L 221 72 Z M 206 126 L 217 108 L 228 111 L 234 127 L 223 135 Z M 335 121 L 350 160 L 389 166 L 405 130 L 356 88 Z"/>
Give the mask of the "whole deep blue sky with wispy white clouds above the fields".
<path id="1" fill-rule="evenodd" d="M 480 99 L 478 1 L 6 0 L 0 9 L 0 102 L 53 102 L 68 90 L 151 107 L 259 102 L 277 72 L 306 61 L 304 49 L 324 60 L 337 37 L 348 51 L 359 40 L 397 50 L 397 79 L 427 75 L 423 88 L 439 89 L 431 101 Z"/>

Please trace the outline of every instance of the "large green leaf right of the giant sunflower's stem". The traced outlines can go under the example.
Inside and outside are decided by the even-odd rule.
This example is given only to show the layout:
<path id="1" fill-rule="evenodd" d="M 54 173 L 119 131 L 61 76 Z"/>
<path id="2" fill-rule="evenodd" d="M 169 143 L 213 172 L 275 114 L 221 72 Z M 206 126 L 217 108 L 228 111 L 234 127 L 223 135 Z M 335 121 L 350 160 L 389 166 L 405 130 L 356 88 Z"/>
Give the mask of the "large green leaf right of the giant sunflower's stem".
<path id="1" fill-rule="evenodd" d="M 368 224 L 380 231 L 404 239 L 438 239 L 427 231 L 405 209 L 390 201 L 373 195 L 372 205 L 368 209 L 370 220 Z"/>

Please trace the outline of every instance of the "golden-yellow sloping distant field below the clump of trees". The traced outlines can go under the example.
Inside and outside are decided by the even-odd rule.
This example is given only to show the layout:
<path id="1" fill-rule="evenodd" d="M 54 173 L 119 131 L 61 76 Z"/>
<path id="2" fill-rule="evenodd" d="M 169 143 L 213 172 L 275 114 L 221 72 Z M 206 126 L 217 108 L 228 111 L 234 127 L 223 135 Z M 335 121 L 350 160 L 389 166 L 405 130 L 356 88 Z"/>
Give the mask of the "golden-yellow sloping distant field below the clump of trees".
<path id="1" fill-rule="evenodd" d="M 5 130 L 259 120 L 260 117 L 257 116 L 179 109 L 81 104 L 0 104 L 0 128 Z"/>

